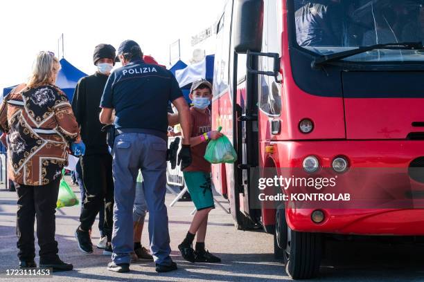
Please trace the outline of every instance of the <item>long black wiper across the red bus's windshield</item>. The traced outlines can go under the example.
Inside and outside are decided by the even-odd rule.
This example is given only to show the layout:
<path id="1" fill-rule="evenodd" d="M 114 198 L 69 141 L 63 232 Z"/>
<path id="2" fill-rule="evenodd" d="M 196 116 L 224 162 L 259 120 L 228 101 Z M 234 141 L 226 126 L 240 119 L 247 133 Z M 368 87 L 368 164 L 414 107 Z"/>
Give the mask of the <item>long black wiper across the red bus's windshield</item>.
<path id="1" fill-rule="evenodd" d="M 330 55 L 322 55 L 317 57 L 312 61 L 312 68 L 320 68 L 324 66 L 324 64 L 328 64 L 330 62 L 339 61 L 340 59 L 344 59 L 346 57 L 351 57 L 353 55 L 357 55 L 360 53 L 365 53 L 367 51 L 371 51 L 374 49 L 405 49 L 405 50 L 415 50 L 415 49 L 423 49 L 422 42 L 399 42 L 399 43 L 387 43 L 387 44 L 376 44 L 371 46 L 363 46 L 353 50 L 347 50 L 339 53 L 334 53 Z"/>

